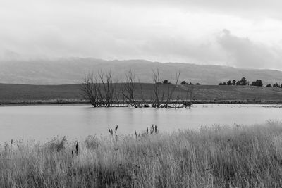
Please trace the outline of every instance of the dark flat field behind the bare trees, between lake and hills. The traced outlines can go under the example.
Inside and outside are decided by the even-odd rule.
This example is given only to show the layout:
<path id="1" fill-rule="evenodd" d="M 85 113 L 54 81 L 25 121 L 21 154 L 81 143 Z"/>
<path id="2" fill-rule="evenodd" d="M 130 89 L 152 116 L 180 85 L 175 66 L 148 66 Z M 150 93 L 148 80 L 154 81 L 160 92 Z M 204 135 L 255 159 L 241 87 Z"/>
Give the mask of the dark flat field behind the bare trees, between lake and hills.
<path id="1" fill-rule="evenodd" d="M 251 86 L 219 86 L 219 85 L 179 85 L 173 94 L 173 99 L 189 99 L 189 92 L 199 102 L 245 102 L 245 103 L 280 103 L 281 88 L 251 87 Z M 1 104 L 48 104 L 48 103 L 81 103 L 82 92 L 80 84 L 66 85 L 28 85 L 0 84 Z M 123 84 L 117 84 L 121 91 Z M 142 84 L 143 95 L 147 100 L 154 99 L 153 84 Z M 161 84 L 160 93 L 166 98 L 167 84 Z M 122 95 L 121 95 L 122 96 Z M 136 84 L 135 98 L 140 99 L 140 84 Z M 245 101 L 243 101 L 245 100 Z"/>

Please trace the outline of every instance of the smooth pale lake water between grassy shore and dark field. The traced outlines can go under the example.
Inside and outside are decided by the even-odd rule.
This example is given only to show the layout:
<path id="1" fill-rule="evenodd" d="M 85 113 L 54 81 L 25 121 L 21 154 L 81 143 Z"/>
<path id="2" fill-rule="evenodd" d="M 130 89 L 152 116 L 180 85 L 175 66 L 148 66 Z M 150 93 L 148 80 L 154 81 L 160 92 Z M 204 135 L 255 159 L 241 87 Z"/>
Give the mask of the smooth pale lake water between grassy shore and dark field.
<path id="1" fill-rule="evenodd" d="M 281 121 L 281 112 L 282 108 L 271 105 L 251 104 L 197 104 L 190 109 L 1 106 L 0 144 L 19 138 L 44 142 L 65 135 L 68 139 L 82 139 L 109 134 L 108 127 L 116 125 L 119 134 L 142 132 L 152 124 L 162 132 L 197 129 L 200 125 L 253 125 Z"/>

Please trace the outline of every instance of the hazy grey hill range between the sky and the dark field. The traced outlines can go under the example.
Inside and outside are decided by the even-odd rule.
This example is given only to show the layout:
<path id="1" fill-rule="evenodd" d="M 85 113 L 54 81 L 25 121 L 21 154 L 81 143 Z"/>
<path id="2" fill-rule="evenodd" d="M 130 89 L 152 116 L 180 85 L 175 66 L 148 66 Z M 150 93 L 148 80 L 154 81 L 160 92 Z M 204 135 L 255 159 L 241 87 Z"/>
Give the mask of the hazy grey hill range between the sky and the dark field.
<path id="1" fill-rule="evenodd" d="M 77 84 L 86 73 L 111 70 L 114 79 L 123 82 L 128 70 L 133 70 L 136 80 L 152 82 L 152 70 L 159 69 L 161 80 L 175 81 L 180 70 L 180 81 L 219 84 L 227 80 L 246 77 L 250 82 L 260 79 L 265 84 L 282 82 L 279 70 L 232 68 L 219 65 L 196 65 L 190 63 L 157 63 L 144 60 L 104 61 L 94 58 L 65 58 L 38 61 L 2 61 L 0 82 L 13 84 Z"/>

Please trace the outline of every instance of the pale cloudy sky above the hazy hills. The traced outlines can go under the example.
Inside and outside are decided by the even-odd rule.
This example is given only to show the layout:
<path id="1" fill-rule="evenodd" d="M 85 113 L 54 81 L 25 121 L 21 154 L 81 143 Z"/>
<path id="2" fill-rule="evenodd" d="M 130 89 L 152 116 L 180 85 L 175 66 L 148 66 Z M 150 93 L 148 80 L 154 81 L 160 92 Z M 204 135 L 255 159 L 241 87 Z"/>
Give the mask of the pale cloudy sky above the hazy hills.
<path id="1" fill-rule="evenodd" d="M 145 59 L 282 70 L 281 0 L 0 0 L 0 61 Z"/>

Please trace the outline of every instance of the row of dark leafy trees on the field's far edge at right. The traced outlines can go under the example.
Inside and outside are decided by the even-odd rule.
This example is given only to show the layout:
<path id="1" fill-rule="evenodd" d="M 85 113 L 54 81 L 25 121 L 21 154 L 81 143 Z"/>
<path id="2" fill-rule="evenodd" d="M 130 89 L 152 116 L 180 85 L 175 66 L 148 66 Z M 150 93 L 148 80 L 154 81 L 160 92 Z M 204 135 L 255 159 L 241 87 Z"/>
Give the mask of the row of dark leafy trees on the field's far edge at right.
<path id="1" fill-rule="evenodd" d="M 251 86 L 257 86 L 257 87 L 263 87 L 264 84 L 262 82 L 262 80 L 256 80 L 254 82 L 252 82 L 252 84 L 250 84 L 249 81 L 246 80 L 245 77 L 242 77 L 241 80 L 228 80 L 227 82 L 220 82 L 219 85 L 251 85 Z M 278 88 L 282 88 L 282 84 L 278 84 L 277 82 L 273 85 L 271 84 L 267 84 L 266 87 L 278 87 Z"/>

